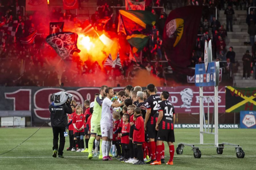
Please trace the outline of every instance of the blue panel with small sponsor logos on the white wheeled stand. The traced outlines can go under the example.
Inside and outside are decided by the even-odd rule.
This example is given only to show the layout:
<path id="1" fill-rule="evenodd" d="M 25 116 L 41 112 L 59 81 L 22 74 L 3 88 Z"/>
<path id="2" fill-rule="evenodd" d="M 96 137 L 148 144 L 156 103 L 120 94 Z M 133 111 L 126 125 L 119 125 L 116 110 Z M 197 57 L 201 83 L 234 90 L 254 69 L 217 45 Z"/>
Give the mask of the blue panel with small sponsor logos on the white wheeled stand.
<path id="1" fill-rule="evenodd" d="M 205 64 L 195 66 L 195 85 L 196 86 L 216 86 L 216 65 L 215 62 L 208 63 L 207 72 Z"/>

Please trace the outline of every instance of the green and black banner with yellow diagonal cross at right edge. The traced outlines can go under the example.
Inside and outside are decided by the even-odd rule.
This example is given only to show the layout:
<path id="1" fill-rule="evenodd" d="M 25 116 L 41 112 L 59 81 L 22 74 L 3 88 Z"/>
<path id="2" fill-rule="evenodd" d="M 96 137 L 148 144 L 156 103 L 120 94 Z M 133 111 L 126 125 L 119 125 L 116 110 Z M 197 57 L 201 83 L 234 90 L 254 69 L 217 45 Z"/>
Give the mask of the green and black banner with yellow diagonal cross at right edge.
<path id="1" fill-rule="evenodd" d="M 256 110 L 256 88 L 226 86 L 226 112 Z"/>

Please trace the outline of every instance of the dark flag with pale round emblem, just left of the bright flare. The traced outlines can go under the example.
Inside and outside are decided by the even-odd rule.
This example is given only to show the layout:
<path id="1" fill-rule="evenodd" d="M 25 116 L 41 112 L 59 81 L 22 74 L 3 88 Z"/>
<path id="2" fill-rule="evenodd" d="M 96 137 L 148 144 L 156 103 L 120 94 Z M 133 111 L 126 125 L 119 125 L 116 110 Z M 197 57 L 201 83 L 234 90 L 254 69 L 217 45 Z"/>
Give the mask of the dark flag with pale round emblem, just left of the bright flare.
<path id="1" fill-rule="evenodd" d="M 58 32 L 46 37 L 46 42 L 57 52 L 57 54 L 65 59 L 72 56 L 74 52 L 80 52 L 77 48 L 76 33 L 72 32 Z"/>

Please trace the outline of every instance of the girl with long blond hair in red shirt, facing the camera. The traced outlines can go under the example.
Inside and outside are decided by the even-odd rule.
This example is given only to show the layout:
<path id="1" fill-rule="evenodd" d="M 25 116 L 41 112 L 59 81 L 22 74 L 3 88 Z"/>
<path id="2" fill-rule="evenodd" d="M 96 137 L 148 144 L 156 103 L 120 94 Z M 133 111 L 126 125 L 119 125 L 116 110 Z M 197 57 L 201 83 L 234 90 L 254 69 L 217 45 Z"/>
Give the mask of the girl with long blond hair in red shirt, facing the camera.
<path id="1" fill-rule="evenodd" d="M 77 140 L 78 150 L 81 152 L 84 150 L 84 115 L 82 114 L 82 105 L 77 105 L 76 115 L 73 116 L 73 126 L 74 126 L 74 140 Z"/>

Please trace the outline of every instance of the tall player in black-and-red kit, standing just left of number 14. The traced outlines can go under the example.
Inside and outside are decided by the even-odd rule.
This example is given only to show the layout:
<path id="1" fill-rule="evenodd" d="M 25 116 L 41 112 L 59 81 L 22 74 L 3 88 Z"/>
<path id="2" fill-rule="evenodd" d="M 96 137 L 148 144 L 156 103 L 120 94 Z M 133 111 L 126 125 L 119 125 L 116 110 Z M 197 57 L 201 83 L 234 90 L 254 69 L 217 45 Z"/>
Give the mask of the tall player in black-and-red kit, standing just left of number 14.
<path id="1" fill-rule="evenodd" d="M 155 93 L 154 84 L 147 85 L 147 92 L 150 95 L 146 99 L 146 116 L 144 121 L 144 128 L 148 135 L 148 144 L 150 149 L 151 161 L 147 163 L 152 163 L 156 160 L 156 145 L 155 138 L 157 135 L 156 131 L 156 117 L 158 117 L 158 108 L 157 105 L 161 102 L 160 96 Z"/>

